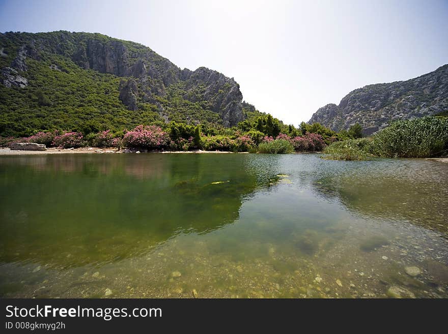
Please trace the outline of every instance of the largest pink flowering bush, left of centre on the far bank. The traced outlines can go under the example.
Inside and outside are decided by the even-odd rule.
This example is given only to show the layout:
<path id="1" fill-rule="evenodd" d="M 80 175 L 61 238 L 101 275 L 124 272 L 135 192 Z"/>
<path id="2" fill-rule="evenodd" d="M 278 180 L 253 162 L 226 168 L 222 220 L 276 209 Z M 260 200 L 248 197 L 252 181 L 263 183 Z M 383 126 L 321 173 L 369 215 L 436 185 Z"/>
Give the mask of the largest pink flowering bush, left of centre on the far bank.
<path id="1" fill-rule="evenodd" d="M 170 143 L 170 136 L 157 126 L 139 125 L 123 137 L 123 145 L 126 147 L 163 149 L 169 147 Z"/>

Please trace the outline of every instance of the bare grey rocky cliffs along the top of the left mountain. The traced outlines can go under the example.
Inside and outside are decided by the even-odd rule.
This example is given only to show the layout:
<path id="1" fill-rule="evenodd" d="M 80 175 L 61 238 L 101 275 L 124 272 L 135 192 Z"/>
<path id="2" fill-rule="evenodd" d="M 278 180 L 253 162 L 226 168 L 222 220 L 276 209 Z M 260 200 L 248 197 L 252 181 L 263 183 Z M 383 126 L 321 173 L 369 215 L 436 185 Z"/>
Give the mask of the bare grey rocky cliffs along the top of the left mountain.
<path id="1" fill-rule="evenodd" d="M 2 41 L 5 41 L 4 44 L 11 44 L 11 41 L 16 44 L 16 50 L 0 45 L 3 47 L 2 53 L 3 50 L 16 52 L 11 65 L 4 67 L 1 72 L 6 87 L 27 85 L 27 56 L 39 59 L 40 54 L 57 54 L 81 69 L 123 77 L 117 89 L 120 101 L 129 110 L 136 110 L 140 102 L 150 103 L 156 105 L 160 115 L 163 114 L 162 118 L 169 122 L 170 117 L 164 111 L 167 106 L 163 105 L 160 98 L 166 96 L 168 87 L 179 85 L 185 100 L 209 106 L 210 111 L 220 116 L 223 126 L 235 126 L 244 119 L 242 94 L 233 78 L 204 67 L 195 71 L 181 70 L 169 59 L 141 44 L 100 34 L 69 32 L 6 33 L 0 34 Z M 58 67 L 54 65 L 51 68 Z"/>

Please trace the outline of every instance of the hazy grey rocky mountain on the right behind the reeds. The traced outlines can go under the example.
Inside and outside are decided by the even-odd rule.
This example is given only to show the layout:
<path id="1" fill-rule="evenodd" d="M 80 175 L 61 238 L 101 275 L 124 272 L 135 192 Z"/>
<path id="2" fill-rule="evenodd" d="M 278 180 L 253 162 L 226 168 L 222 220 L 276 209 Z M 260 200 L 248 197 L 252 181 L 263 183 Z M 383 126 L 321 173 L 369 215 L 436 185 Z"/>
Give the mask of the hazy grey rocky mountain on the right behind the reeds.
<path id="1" fill-rule="evenodd" d="M 406 81 L 378 83 L 358 88 L 339 105 L 319 108 L 308 123 L 334 131 L 359 123 L 370 135 L 398 119 L 434 115 L 448 110 L 448 64 Z"/>

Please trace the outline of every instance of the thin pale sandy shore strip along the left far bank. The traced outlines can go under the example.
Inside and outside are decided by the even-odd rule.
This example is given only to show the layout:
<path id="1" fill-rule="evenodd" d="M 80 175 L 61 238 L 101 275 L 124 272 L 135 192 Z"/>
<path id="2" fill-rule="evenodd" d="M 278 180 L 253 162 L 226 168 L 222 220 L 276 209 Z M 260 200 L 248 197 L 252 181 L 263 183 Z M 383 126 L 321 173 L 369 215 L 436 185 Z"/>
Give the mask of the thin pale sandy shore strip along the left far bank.
<path id="1" fill-rule="evenodd" d="M 99 148 L 99 147 L 80 147 L 73 149 L 64 148 L 47 148 L 46 151 L 25 151 L 25 150 L 12 150 L 9 148 L 0 148 L 0 156 L 25 156 L 25 155 L 42 155 L 42 154 L 77 154 L 77 153 L 96 153 L 96 154 L 111 154 L 111 153 L 131 153 L 129 150 L 118 150 L 115 147 Z M 187 153 L 187 154 L 202 154 L 202 153 L 214 153 L 214 154 L 226 154 L 232 153 L 229 151 L 163 151 L 163 152 L 151 152 L 151 153 Z M 247 153 L 247 152 L 244 152 Z"/>

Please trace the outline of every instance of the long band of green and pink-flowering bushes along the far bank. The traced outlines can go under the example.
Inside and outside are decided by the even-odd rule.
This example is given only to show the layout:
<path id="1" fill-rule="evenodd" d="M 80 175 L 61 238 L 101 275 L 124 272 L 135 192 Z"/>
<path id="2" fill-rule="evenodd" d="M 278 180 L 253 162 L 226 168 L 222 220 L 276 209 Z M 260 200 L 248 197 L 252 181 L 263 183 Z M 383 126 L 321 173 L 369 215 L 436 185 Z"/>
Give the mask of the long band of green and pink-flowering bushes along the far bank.
<path id="1" fill-rule="evenodd" d="M 255 111 L 252 111 L 255 112 Z M 312 132 L 316 131 L 316 132 Z M 304 133 L 303 133 L 304 132 Z M 93 123 L 80 130 L 38 131 L 29 137 L 3 137 L 0 145 L 11 142 L 36 142 L 48 147 L 128 147 L 135 150 L 219 150 L 260 151 L 262 153 L 291 153 L 292 151 L 321 151 L 327 141 L 337 140 L 338 134 L 316 125 L 302 125 L 302 129 L 285 126 L 270 114 L 259 113 L 253 121 L 244 120 L 237 127 L 223 128 L 213 124 L 138 125 L 131 130 L 111 131 L 98 129 Z M 331 136 L 331 137 L 329 137 Z"/>

